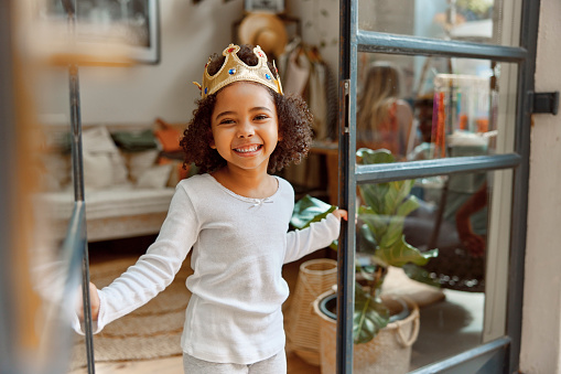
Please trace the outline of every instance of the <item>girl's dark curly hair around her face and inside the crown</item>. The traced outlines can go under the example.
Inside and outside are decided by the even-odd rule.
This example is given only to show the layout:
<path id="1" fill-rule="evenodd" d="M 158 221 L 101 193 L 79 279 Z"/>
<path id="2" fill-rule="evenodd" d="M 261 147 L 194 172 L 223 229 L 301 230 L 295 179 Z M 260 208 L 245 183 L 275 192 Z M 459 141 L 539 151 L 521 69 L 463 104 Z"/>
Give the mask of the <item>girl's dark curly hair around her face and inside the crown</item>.
<path id="1" fill-rule="evenodd" d="M 241 45 L 238 57 L 249 66 L 258 64 L 252 45 Z M 214 54 L 208 64 L 208 74 L 216 74 L 225 60 L 225 56 Z M 278 78 L 273 65 L 270 62 L 267 64 Z M 269 87 L 266 88 L 277 107 L 279 139 L 282 139 L 277 143 L 277 148 L 269 159 L 268 171 L 273 173 L 291 162 L 299 163 L 308 154 L 312 143 L 313 117 L 306 103 L 300 96 L 283 96 Z M 218 154 L 218 151 L 209 147 L 213 140 L 211 117 L 216 104 L 216 95 L 219 92 L 196 101 L 197 108 L 193 110 L 193 119 L 188 122 L 180 142 L 185 152 L 183 168 L 194 163 L 198 168 L 198 173 L 206 173 L 226 165 L 226 160 Z"/>

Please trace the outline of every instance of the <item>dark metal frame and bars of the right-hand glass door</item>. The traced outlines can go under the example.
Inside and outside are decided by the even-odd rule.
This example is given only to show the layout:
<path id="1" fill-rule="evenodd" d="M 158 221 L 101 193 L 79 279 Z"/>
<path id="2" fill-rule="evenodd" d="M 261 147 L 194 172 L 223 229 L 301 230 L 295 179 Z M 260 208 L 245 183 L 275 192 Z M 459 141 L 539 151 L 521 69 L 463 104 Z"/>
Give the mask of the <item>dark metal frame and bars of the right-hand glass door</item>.
<path id="1" fill-rule="evenodd" d="M 518 371 L 520 340 L 524 259 L 528 212 L 529 151 L 531 105 L 533 92 L 539 0 L 522 0 L 519 46 L 434 40 L 429 38 L 387 34 L 358 30 L 358 0 L 339 2 L 339 206 L 355 216 L 355 191 L 359 183 L 380 183 L 457 172 L 511 169 L 513 213 L 508 276 L 508 316 L 506 335 L 482 344 L 414 373 L 445 373 L 467 363 L 483 360 L 490 372 Z M 518 66 L 517 116 L 513 153 L 450 158 L 404 163 L 355 165 L 356 153 L 356 77 L 357 53 L 379 52 L 403 55 L 485 58 Z M 337 279 L 337 373 L 353 372 L 353 312 L 355 271 L 355 222 L 343 225 Z"/>

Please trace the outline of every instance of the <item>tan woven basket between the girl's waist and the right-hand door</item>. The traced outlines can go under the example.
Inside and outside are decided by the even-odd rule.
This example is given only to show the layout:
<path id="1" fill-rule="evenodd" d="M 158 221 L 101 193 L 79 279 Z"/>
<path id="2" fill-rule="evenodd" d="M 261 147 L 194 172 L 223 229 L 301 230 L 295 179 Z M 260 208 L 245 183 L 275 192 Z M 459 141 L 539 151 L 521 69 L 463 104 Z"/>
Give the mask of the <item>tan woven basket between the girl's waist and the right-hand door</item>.
<path id="1" fill-rule="evenodd" d="M 288 313 L 287 339 L 292 351 L 306 363 L 320 366 L 320 321 L 314 300 L 337 284 L 337 261 L 312 259 L 300 266 L 296 289 Z"/>

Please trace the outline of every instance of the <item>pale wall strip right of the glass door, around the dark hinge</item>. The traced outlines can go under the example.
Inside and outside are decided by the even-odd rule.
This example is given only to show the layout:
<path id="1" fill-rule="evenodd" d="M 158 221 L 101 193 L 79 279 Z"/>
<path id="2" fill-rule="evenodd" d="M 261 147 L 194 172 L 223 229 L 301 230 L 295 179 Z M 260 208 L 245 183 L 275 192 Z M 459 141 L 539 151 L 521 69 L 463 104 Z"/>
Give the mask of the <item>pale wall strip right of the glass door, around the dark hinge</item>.
<path id="1" fill-rule="evenodd" d="M 561 88 L 561 2 L 542 0 L 536 92 Z M 535 115 L 524 290 L 522 373 L 561 373 L 561 115 Z"/>

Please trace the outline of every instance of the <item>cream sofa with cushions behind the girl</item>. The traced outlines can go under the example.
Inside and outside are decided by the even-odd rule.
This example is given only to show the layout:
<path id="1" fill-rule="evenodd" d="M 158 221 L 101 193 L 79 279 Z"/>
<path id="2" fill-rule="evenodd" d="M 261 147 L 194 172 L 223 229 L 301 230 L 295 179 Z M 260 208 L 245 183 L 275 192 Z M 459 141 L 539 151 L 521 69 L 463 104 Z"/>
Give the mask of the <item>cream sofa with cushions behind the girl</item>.
<path id="1" fill-rule="evenodd" d="M 180 128 L 161 120 L 148 127 L 84 128 L 88 242 L 160 231 L 175 184 L 196 172 L 194 168 L 182 168 L 180 137 Z M 58 140 L 51 139 L 41 156 L 40 192 L 34 195 L 34 206 L 36 216 L 48 221 L 51 235 L 61 239 L 74 207 L 74 185 L 69 135 L 58 131 L 55 138 Z"/>

